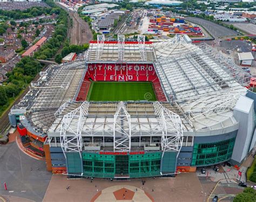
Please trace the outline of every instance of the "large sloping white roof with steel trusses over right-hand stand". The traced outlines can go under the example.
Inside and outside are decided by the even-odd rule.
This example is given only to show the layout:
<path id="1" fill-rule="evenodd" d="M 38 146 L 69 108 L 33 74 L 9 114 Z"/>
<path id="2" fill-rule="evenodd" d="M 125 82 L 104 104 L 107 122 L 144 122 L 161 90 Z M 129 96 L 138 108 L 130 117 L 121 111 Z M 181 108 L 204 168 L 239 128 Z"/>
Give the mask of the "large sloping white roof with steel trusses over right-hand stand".
<path id="1" fill-rule="evenodd" d="M 250 74 L 207 44 L 186 44 L 184 39 L 174 37 L 167 44 L 156 45 L 155 51 L 158 60 L 154 67 L 169 101 L 199 99 L 250 84 Z"/>

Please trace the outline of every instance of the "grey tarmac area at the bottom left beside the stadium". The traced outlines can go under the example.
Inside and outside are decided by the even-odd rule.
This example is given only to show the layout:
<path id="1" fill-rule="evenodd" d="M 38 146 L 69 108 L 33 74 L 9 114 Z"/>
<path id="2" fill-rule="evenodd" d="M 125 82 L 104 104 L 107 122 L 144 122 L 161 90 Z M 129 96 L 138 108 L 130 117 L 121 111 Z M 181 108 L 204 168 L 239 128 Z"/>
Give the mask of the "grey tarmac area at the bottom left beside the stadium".
<path id="1" fill-rule="evenodd" d="M 52 176 L 46 171 L 44 161 L 26 155 L 14 141 L 1 145 L 0 162 L 0 195 L 19 197 L 9 201 L 43 200 Z M 4 183 L 8 190 L 4 189 Z"/>

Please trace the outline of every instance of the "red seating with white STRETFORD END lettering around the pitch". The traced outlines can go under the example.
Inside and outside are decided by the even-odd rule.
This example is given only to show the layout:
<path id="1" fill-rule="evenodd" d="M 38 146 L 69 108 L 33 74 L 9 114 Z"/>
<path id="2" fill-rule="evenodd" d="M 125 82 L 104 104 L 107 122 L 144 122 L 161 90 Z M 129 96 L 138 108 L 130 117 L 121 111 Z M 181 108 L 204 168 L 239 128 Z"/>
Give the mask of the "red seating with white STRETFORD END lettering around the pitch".
<path id="1" fill-rule="evenodd" d="M 84 81 L 76 99 L 77 101 L 86 100 L 90 88 L 90 79 L 93 81 L 151 81 L 157 100 L 166 101 L 165 94 L 152 64 L 88 64 Z"/>

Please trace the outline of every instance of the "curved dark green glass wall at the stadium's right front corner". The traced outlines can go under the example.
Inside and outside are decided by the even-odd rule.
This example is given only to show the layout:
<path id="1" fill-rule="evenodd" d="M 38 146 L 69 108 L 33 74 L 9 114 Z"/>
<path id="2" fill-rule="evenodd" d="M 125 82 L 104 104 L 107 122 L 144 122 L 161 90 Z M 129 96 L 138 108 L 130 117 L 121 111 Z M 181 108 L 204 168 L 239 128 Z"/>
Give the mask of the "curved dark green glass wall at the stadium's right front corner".
<path id="1" fill-rule="evenodd" d="M 192 165 L 213 165 L 229 160 L 232 156 L 235 138 L 229 140 L 194 144 Z"/>

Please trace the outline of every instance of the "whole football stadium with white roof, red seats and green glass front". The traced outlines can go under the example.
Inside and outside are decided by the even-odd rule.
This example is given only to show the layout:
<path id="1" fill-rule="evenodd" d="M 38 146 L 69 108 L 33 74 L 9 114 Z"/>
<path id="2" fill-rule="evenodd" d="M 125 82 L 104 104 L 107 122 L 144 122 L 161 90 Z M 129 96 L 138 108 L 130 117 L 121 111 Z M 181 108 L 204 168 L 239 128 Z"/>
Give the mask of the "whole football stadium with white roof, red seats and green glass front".
<path id="1" fill-rule="evenodd" d="M 23 145 L 72 177 L 174 176 L 254 148 L 251 75 L 187 36 L 91 41 L 52 65 L 11 109 Z"/>

